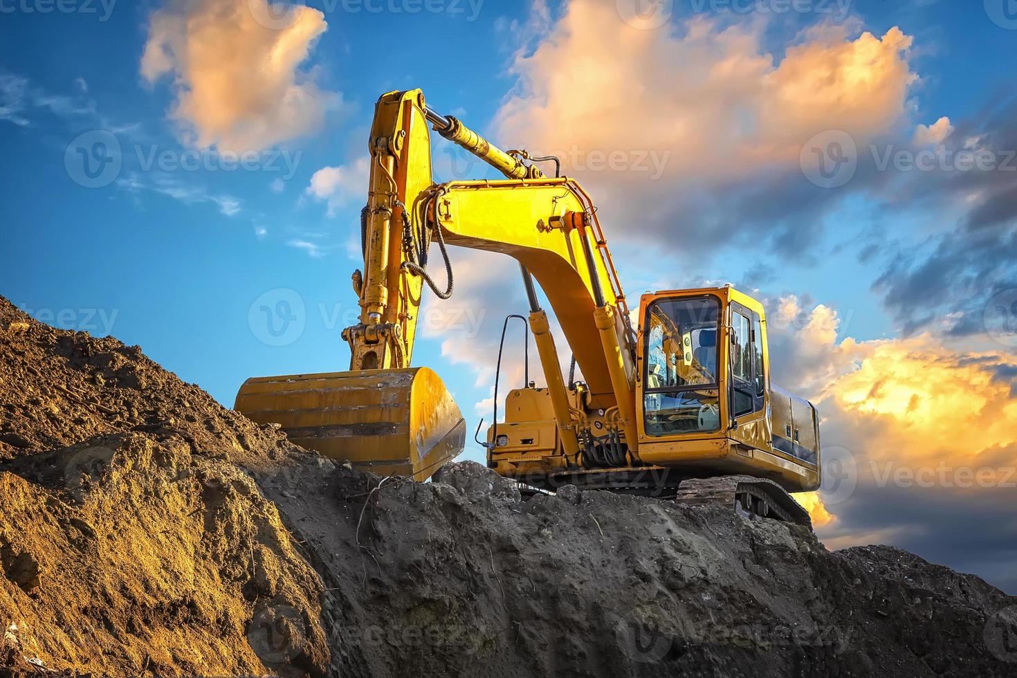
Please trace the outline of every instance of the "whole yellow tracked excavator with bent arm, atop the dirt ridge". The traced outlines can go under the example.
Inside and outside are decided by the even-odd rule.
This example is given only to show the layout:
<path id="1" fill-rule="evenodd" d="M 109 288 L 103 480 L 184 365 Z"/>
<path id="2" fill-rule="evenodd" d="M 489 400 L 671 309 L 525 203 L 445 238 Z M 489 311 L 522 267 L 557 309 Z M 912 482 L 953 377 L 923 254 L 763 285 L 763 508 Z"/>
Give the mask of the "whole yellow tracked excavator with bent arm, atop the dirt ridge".
<path id="1" fill-rule="evenodd" d="M 431 128 L 505 179 L 434 183 Z M 426 480 L 467 431 L 438 376 L 410 366 L 421 296 L 425 285 L 453 294 L 446 245 L 499 252 L 520 264 L 546 386 L 527 379 L 507 393 L 502 422 L 495 411 L 478 440 L 489 468 L 536 491 L 642 493 L 809 525 L 788 492 L 819 487 L 819 418 L 771 384 L 759 302 L 729 286 L 645 294 L 634 328 L 597 209 L 557 176 L 557 159 L 501 150 L 433 112 L 419 89 L 378 100 L 369 150 L 364 270 L 353 273 L 361 314 L 343 331 L 350 370 L 248 379 L 237 411 L 354 468 Z M 444 290 L 431 279 L 432 243 Z M 583 381 L 562 375 L 538 285 Z M 497 377 L 497 404 L 496 389 Z"/>

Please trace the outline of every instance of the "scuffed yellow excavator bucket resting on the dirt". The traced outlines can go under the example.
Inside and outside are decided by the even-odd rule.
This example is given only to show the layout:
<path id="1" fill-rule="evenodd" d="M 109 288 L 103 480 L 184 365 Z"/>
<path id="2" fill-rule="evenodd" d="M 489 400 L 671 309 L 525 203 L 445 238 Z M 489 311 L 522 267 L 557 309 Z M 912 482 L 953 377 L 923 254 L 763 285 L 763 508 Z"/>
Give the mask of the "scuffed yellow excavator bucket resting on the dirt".
<path id="1" fill-rule="evenodd" d="M 426 367 L 254 377 L 237 412 L 355 469 L 427 480 L 466 443 L 466 420 Z"/>

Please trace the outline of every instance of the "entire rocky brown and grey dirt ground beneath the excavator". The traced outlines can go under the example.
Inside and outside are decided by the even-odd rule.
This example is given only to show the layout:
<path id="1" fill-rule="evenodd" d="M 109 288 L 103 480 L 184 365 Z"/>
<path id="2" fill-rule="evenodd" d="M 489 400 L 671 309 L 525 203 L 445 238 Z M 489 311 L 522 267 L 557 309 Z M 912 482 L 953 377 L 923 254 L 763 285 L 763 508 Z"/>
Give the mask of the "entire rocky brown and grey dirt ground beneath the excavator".
<path id="1" fill-rule="evenodd" d="M 1017 676 L 1017 599 L 902 551 L 434 480 L 0 298 L 0 676 Z"/>

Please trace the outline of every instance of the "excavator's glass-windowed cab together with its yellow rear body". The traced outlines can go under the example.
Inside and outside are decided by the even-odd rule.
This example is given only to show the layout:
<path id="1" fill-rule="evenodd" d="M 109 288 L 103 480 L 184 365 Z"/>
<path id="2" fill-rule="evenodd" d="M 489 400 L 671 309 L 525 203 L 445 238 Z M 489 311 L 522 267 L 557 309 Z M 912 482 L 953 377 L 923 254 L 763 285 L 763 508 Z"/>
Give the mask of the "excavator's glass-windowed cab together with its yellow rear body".
<path id="1" fill-rule="evenodd" d="M 762 304 L 730 287 L 679 290 L 644 295 L 640 314 L 644 464 L 689 477 L 752 475 L 791 492 L 818 489 L 819 416 L 771 384 Z"/>

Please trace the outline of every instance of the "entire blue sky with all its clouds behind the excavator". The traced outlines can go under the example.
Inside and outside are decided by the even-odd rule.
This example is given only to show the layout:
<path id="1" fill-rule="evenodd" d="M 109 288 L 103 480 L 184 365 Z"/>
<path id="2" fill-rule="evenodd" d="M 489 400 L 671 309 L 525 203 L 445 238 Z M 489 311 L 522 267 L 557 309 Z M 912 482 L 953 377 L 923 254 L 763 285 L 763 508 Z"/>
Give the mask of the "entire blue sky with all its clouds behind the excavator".
<path id="1" fill-rule="evenodd" d="M 421 87 L 562 158 L 630 299 L 764 302 L 829 548 L 1017 593 L 1015 48 L 1011 0 L 0 0 L 0 294 L 227 407 L 346 369 L 373 103 Z M 432 141 L 436 180 L 495 178 Z M 472 432 L 526 304 L 511 259 L 452 260 L 414 362 Z"/>

